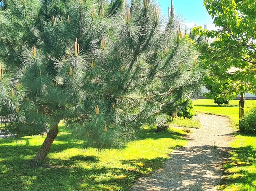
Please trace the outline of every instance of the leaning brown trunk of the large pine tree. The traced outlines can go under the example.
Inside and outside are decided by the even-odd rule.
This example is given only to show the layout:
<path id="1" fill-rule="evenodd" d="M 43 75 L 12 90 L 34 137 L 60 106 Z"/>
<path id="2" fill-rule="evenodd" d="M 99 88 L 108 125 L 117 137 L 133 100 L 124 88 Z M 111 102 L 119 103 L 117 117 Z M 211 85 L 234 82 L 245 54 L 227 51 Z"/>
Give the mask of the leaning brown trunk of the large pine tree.
<path id="1" fill-rule="evenodd" d="M 47 136 L 46 136 L 43 144 L 41 145 L 40 150 L 38 151 L 38 153 L 32 160 L 33 166 L 41 165 L 43 163 L 45 157 L 47 156 L 48 152 L 50 151 L 50 147 L 51 147 L 54 139 L 58 135 L 58 124 L 59 124 L 59 121 L 56 123 L 56 125 L 54 125 L 48 131 Z"/>

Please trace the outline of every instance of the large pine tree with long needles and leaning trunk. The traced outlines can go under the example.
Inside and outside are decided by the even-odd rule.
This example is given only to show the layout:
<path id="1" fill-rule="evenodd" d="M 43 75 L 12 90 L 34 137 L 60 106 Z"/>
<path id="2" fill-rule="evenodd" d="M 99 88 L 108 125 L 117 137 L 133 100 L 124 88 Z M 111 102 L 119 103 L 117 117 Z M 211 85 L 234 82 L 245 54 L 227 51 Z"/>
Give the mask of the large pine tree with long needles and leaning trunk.
<path id="1" fill-rule="evenodd" d="M 149 0 L 6 1 L 0 116 L 17 135 L 47 132 L 33 164 L 61 120 L 87 146 L 120 146 L 145 124 L 165 124 L 162 108 L 190 98 L 201 78 L 173 7 L 164 28 Z"/>

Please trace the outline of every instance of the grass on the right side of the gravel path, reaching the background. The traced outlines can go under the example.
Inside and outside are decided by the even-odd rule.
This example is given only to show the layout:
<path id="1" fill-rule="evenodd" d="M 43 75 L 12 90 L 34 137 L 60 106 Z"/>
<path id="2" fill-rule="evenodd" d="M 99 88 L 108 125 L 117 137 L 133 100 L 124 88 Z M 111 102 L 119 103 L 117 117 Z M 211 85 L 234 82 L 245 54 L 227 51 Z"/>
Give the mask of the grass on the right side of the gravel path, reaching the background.
<path id="1" fill-rule="evenodd" d="M 228 116 L 233 124 L 239 122 L 239 101 L 232 100 L 228 106 L 217 106 L 213 100 L 195 100 L 197 112 Z M 256 101 L 246 101 L 248 106 L 255 106 Z M 220 190 L 224 191 L 256 191 L 256 136 L 248 134 L 235 134 L 231 143 L 233 151 L 230 159 L 223 163 L 224 174 Z"/>

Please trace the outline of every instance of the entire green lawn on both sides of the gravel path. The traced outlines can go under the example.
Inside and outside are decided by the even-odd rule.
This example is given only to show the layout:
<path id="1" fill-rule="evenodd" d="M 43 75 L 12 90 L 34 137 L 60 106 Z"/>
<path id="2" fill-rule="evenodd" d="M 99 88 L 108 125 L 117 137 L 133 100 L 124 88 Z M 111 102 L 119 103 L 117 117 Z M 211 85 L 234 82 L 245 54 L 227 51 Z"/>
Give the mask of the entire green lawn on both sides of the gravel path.
<path id="1" fill-rule="evenodd" d="M 255 101 L 247 101 L 253 105 Z M 194 101 L 197 112 L 226 115 L 238 122 L 238 101 L 216 106 L 212 100 Z M 236 117 L 237 116 L 237 117 Z M 174 131 L 173 131 L 174 130 Z M 140 131 L 138 139 L 122 150 L 83 149 L 83 141 L 65 128 L 54 141 L 42 167 L 29 162 L 45 136 L 27 136 L 17 141 L 0 138 L 0 191 L 128 191 L 132 181 L 161 168 L 173 148 L 184 146 L 182 129 L 155 133 Z M 234 151 L 223 164 L 225 191 L 256 190 L 256 137 L 237 133 Z"/>

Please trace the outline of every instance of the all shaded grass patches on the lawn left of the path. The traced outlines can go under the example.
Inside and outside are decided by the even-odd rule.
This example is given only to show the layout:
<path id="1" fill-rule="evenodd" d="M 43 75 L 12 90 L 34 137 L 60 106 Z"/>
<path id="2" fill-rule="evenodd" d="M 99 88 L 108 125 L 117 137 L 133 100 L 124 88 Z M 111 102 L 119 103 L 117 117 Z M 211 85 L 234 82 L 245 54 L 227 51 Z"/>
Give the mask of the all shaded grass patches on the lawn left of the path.
<path id="1" fill-rule="evenodd" d="M 147 138 L 183 139 L 176 132 L 144 131 L 141 140 Z M 33 138 L 33 137 L 32 137 Z M 96 156 L 77 154 L 68 160 L 46 158 L 42 167 L 31 167 L 31 159 L 41 147 L 30 145 L 32 138 L 25 138 L 22 145 L 0 145 L 0 191 L 106 191 L 128 190 L 132 181 L 147 175 L 152 169 L 160 168 L 167 158 L 138 159 L 122 161 L 127 168 L 99 167 Z M 69 148 L 83 148 L 70 134 L 59 134 L 53 142 L 50 153 Z M 59 141 L 59 143 L 58 143 Z M 80 141 L 80 140 L 78 140 Z M 16 142 L 16 139 L 0 139 L 0 144 Z M 3 186 L 2 186 L 3 185 Z"/>

